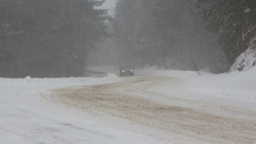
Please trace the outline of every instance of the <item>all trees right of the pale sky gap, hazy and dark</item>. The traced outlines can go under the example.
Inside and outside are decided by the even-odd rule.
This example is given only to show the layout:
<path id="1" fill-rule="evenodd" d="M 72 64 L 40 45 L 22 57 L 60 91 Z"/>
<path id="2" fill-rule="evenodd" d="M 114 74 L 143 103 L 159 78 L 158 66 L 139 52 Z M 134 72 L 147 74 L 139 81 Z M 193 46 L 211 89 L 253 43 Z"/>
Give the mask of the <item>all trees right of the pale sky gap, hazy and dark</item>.
<path id="1" fill-rule="evenodd" d="M 254 13 L 254 0 L 119 0 L 119 62 L 226 71 L 255 36 Z"/>

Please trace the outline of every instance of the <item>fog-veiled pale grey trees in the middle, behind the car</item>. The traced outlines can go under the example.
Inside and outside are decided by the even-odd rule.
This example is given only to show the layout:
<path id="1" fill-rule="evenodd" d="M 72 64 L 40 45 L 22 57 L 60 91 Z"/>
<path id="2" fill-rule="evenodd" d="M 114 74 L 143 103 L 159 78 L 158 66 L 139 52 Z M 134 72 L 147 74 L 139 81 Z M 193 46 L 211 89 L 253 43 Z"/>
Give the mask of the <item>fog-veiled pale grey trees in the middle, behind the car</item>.
<path id="1" fill-rule="evenodd" d="M 220 73 L 230 63 L 217 34 L 205 29 L 201 11 L 191 1 L 120 0 L 113 38 L 98 44 L 90 66 L 158 66 L 173 70 Z"/>

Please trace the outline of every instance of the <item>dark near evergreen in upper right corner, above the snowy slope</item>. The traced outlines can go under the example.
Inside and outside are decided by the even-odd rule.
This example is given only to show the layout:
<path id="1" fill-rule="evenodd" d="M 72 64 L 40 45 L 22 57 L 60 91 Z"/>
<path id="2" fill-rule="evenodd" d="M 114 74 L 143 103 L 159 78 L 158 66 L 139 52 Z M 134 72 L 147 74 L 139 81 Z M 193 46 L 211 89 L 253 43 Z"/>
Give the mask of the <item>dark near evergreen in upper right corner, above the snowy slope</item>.
<path id="1" fill-rule="evenodd" d="M 230 60 L 242 54 L 256 35 L 256 1 L 198 0 L 207 29 L 218 34 L 218 41 Z"/>

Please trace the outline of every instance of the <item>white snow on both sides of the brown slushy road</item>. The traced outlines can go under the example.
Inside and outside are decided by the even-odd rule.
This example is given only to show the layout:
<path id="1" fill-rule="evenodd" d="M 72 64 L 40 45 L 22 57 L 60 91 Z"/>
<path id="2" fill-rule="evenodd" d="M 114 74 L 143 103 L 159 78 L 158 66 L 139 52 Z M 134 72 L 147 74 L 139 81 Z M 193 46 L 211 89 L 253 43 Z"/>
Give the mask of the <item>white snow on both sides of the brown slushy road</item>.
<path id="1" fill-rule="evenodd" d="M 186 94 L 191 93 L 191 97 L 200 95 L 194 98 L 218 98 L 219 102 L 225 99 L 256 104 L 256 68 L 203 76 L 198 76 L 194 71 L 155 68 L 137 70 L 135 74 L 178 79 L 177 83 L 171 85 L 159 81 L 157 85 L 147 87 L 152 91 L 166 94 L 186 91 Z M 124 79 L 115 74 L 107 74 L 102 78 L 0 78 L 0 143 L 176 143 L 145 135 L 136 126 L 122 130 L 129 126 L 122 126 L 119 121 L 116 122 L 117 126 L 106 125 L 107 118 L 104 116 L 92 118 L 90 114 L 69 106 L 63 107 L 44 98 L 44 95 L 51 94 L 51 90 L 59 88 L 107 85 Z M 184 139 L 178 142 L 184 142 Z M 190 138 L 187 143 L 191 143 Z"/>

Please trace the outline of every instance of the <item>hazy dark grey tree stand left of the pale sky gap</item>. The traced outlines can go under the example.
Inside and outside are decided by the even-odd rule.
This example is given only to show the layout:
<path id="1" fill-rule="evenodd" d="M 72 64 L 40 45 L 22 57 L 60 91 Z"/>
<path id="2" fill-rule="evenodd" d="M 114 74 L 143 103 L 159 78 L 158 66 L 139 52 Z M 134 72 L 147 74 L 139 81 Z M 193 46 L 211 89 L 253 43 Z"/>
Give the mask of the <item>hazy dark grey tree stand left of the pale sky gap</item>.
<path id="1" fill-rule="evenodd" d="M 109 34 L 94 0 L 0 0 L 0 77 L 83 76 Z"/>

